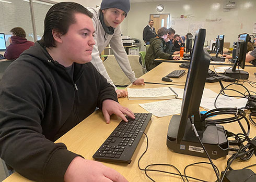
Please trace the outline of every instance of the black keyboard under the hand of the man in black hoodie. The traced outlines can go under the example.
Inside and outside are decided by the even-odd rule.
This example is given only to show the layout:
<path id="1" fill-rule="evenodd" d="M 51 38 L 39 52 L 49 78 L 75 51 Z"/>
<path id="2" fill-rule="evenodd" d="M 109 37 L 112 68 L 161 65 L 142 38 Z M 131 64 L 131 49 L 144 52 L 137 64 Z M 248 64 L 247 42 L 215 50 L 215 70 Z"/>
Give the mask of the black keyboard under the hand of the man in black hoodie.
<path id="1" fill-rule="evenodd" d="M 152 113 L 134 113 L 135 119 L 126 116 L 92 156 L 96 160 L 131 163 L 132 155 L 145 131 Z"/>

